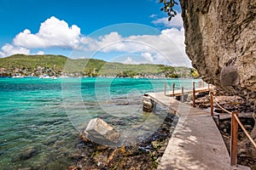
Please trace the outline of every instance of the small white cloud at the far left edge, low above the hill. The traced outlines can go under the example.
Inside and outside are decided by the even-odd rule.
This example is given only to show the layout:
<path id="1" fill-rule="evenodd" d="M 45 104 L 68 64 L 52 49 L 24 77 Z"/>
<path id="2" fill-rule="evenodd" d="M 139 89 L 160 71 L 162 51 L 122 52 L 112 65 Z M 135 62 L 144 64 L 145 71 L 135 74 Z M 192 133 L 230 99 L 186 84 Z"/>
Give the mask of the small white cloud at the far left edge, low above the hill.
<path id="1" fill-rule="evenodd" d="M 13 54 L 30 54 L 30 50 L 27 48 L 13 46 L 9 43 L 5 44 L 0 51 L 0 57 L 7 57 Z"/>

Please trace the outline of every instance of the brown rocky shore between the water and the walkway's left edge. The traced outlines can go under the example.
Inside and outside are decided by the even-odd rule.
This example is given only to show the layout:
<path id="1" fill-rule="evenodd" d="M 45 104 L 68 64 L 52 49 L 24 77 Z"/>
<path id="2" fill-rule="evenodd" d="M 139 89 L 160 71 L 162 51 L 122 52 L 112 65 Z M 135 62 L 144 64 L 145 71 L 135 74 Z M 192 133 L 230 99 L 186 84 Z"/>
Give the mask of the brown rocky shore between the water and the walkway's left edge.
<path id="1" fill-rule="evenodd" d="M 80 133 L 81 142 L 77 153 L 71 156 L 74 163 L 68 169 L 156 169 L 177 124 L 177 116 L 166 112 L 158 130 L 133 145 L 112 148 L 93 143 Z"/>

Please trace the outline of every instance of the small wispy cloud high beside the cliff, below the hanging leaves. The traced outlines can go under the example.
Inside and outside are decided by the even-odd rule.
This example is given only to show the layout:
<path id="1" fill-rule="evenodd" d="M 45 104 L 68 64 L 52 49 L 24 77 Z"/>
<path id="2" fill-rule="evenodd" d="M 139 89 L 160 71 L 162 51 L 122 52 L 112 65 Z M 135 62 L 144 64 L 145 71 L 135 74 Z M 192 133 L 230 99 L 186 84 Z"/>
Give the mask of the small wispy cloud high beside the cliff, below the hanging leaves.
<path id="1" fill-rule="evenodd" d="M 167 28 L 177 27 L 182 28 L 183 27 L 183 19 L 180 13 L 177 13 L 175 17 L 172 17 L 172 20 L 168 21 L 168 17 L 163 17 L 158 20 L 153 20 L 152 23 L 155 26 L 166 26 Z"/>

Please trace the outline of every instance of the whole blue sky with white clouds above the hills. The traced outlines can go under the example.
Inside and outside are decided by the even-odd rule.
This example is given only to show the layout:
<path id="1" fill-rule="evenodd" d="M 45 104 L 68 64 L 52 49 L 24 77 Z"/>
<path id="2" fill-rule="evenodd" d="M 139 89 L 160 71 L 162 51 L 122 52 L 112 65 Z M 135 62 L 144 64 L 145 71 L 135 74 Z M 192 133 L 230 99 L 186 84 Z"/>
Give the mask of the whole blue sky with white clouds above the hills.
<path id="1" fill-rule="evenodd" d="M 61 54 L 125 64 L 191 66 L 181 9 L 158 0 L 0 0 L 0 58 Z"/>

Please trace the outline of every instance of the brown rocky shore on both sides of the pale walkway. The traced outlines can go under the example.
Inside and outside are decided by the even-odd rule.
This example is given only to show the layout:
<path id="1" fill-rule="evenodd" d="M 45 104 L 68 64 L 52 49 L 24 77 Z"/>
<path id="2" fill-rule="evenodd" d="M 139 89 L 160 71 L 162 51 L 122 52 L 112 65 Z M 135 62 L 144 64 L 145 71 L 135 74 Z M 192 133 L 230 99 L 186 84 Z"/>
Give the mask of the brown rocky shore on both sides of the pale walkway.
<path id="1" fill-rule="evenodd" d="M 248 104 L 238 96 L 217 96 L 216 99 L 219 105 L 226 110 L 239 111 L 241 122 L 249 133 L 252 132 L 255 123 L 253 119 L 255 104 L 253 102 Z M 191 105 L 191 102 L 188 104 Z M 210 111 L 210 98 L 207 94 L 198 94 L 195 104 L 198 108 Z M 230 116 L 218 108 L 218 105 L 214 105 L 214 112 L 218 114 L 219 119 L 216 119 L 216 123 L 230 152 Z M 79 135 L 78 151 L 71 156 L 74 163 L 68 169 L 156 169 L 172 136 L 177 119 L 177 116 L 168 112 L 165 121 L 148 139 L 118 148 L 96 144 L 84 139 L 83 135 Z M 241 129 L 239 129 L 238 138 L 238 164 L 256 169 L 256 150 L 253 148 L 253 144 L 247 141 L 247 137 Z"/>

